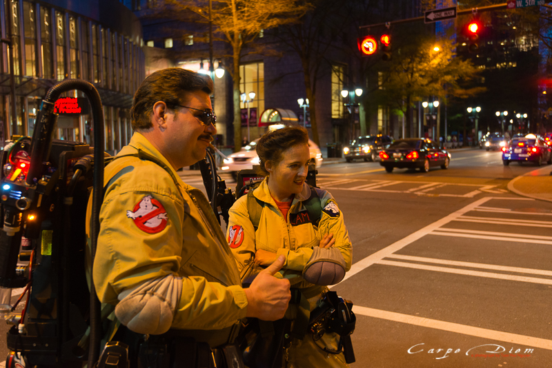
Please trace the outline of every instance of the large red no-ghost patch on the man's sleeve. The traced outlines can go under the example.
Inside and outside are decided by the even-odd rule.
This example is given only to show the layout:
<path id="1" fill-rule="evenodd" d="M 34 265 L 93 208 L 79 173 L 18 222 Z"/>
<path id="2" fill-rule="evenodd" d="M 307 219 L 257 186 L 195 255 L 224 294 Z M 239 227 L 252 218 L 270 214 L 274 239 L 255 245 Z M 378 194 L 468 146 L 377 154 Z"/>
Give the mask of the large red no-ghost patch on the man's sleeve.
<path id="1" fill-rule="evenodd" d="M 135 225 L 143 232 L 157 234 L 167 226 L 167 212 L 151 194 L 141 199 L 126 216 L 132 218 Z"/>

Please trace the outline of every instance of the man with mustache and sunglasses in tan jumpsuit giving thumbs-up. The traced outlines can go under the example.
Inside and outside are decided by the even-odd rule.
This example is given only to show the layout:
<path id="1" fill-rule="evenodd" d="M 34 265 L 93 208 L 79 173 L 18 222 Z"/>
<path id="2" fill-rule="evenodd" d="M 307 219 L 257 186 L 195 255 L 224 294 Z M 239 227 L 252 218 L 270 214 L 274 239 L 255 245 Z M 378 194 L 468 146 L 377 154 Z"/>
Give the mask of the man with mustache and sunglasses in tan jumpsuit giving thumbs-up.
<path id="1" fill-rule="evenodd" d="M 141 83 L 135 134 L 106 167 L 93 276 L 99 299 L 116 305 L 128 329 L 188 331 L 214 348 L 231 343 L 242 318 L 282 318 L 290 283 L 273 276 L 282 257 L 242 289 L 208 201 L 177 174 L 204 159 L 217 132 L 212 90 L 208 76 L 180 68 Z"/>

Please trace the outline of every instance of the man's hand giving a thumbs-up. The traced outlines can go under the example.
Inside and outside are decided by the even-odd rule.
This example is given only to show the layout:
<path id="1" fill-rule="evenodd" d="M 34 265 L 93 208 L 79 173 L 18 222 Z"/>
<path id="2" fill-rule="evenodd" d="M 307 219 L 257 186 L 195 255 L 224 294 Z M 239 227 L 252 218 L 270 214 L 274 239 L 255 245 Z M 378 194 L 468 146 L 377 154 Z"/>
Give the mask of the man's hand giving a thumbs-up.
<path id="1" fill-rule="evenodd" d="M 245 289 L 247 296 L 247 317 L 260 320 L 279 320 L 284 317 L 291 298 L 290 283 L 286 278 L 273 275 L 284 265 L 286 258 L 279 256 L 275 263 L 263 269 L 251 286 Z"/>

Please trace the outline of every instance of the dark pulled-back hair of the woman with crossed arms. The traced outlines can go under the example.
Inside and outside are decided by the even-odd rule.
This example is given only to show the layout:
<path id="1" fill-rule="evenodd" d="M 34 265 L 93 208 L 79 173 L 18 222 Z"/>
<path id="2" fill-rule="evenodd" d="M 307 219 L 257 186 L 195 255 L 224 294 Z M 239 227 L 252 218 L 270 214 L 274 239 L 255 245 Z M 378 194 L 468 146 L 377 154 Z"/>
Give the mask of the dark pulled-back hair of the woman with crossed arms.
<path id="1" fill-rule="evenodd" d="M 268 132 L 257 142 L 259 155 L 259 174 L 268 175 L 265 164 L 277 165 L 282 161 L 282 153 L 295 145 L 308 145 L 308 133 L 304 127 L 284 127 Z"/>

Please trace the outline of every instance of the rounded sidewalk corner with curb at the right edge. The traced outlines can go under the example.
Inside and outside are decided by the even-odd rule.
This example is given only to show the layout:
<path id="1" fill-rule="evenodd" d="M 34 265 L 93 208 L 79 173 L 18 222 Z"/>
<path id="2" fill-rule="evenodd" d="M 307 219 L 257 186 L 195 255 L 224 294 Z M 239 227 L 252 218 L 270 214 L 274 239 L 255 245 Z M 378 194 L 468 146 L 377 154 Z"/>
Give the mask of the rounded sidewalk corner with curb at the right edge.
<path id="1" fill-rule="evenodd" d="M 546 165 L 508 183 L 508 190 L 520 196 L 552 202 L 552 166 Z"/>

